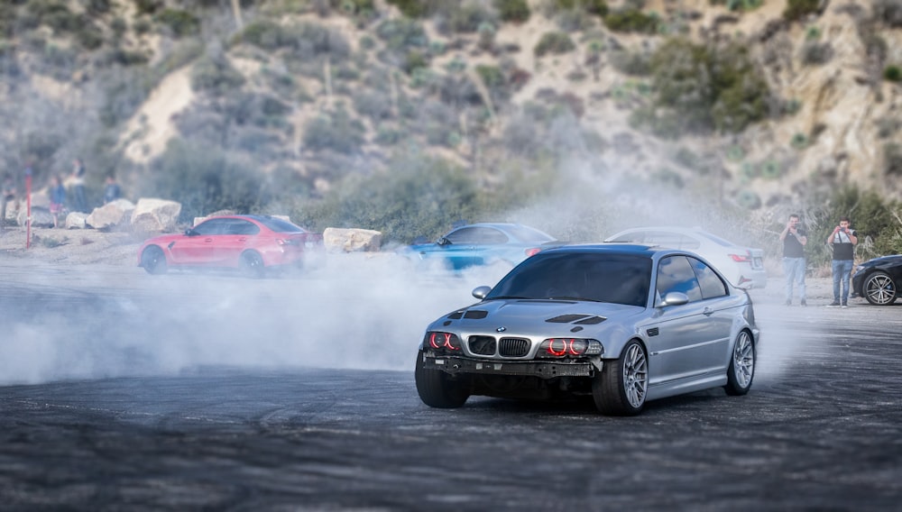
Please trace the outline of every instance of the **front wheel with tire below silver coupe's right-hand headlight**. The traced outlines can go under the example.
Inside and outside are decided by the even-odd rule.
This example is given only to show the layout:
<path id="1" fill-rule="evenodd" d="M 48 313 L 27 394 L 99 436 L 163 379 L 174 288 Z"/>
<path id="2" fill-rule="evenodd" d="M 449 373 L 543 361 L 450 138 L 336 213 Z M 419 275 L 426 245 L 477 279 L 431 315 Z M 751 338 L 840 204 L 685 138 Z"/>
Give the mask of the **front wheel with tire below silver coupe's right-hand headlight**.
<path id="1" fill-rule="evenodd" d="M 635 416 L 649 394 L 649 354 L 642 343 L 631 340 L 620 359 L 604 361 L 592 381 L 595 407 L 607 416 Z"/>

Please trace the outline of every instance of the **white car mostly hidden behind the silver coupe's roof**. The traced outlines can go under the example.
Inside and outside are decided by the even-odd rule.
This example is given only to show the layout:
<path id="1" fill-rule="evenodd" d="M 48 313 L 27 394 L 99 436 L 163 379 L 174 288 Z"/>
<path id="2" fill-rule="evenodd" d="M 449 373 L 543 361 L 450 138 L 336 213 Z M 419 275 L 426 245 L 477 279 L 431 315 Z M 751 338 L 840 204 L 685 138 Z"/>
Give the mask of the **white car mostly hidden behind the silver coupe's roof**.
<path id="1" fill-rule="evenodd" d="M 737 245 L 700 228 L 637 227 L 614 234 L 604 242 L 650 243 L 670 249 L 693 251 L 711 262 L 733 286 L 764 288 L 768 284 L 763 250 Z"/>

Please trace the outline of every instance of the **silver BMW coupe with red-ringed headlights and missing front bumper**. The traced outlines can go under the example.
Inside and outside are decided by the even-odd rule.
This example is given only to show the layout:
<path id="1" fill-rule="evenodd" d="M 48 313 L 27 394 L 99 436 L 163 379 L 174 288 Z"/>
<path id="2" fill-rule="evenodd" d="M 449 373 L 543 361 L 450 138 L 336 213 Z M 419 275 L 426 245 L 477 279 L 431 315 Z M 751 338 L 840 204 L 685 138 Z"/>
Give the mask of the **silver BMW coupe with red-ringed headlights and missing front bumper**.
<path id="1" fill-rule="evenodd" d="M 749 392 L 759 328 L 749 295 L 690 251 L 644 244 L 542 251 L 480 302 L 428 326 L 419 398 L 591 396 L 605 415 L 648 400 L 723 387 Z"/>

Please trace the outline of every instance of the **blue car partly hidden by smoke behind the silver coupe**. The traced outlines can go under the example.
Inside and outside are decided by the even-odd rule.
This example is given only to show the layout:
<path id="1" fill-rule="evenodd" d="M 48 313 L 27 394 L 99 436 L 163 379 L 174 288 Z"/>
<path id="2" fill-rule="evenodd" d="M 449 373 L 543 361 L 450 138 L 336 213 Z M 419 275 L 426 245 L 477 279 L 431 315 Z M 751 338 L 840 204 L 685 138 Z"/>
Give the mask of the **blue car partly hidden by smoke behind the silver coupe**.
<path id="1" fill-rule="evenodd" d="M 457 227 L 433 243 L 406 247 L 410 259 L 436 261 L 448 270 L 506 263 L 514 266 L 529 256 L 560 245 L 555 237 L 522 224 L 481 223 Z"/>

